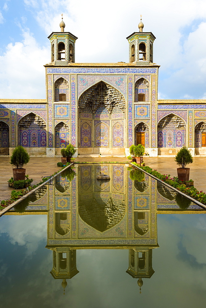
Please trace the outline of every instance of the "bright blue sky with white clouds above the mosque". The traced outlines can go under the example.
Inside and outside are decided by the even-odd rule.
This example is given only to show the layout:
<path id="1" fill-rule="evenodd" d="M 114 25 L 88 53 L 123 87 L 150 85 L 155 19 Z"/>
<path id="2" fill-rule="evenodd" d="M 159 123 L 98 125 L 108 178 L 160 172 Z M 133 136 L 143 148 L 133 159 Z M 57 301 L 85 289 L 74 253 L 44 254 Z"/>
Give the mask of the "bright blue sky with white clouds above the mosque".
<path id="1" fill-rule="evenodd" d="M 152 32 L 158 99 L 206 99 L 205 0 L 0 0 L 0 99 L 45 99 L 51 32 L 78 37 L 76 63 L 129 61 L 127 36 Z"/>

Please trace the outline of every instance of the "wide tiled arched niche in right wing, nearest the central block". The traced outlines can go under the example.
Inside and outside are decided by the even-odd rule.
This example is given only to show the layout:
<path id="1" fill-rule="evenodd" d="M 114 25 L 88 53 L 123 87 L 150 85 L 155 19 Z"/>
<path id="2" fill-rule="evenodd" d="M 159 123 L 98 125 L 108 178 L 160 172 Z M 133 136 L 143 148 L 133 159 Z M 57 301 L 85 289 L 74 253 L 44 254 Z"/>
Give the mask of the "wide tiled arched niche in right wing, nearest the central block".
<path id="1" fill-rule="evenodd" d="M 186 145 L 186 124 L 171 113 L 159 121 L 157 127 L 158 148 L 182 148 Z"/>

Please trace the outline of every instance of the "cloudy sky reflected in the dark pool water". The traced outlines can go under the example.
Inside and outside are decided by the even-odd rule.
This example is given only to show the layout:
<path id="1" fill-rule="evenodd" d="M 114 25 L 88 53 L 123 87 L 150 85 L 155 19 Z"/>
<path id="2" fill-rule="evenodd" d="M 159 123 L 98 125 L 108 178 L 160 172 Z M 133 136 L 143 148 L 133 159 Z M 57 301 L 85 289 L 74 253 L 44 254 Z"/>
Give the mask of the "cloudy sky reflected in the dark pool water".
<path id="1" fill-rule="evenodd" d="M 3 216 L 0 225 L 1 307 L 204 307 L 206 278 L 203 214 L 158 215 L 158 244 L 150 279 L 126 273 L 128 250 L 77 250 L 77 269 L 63 295 L 52 278 L 46 215 Z"/>

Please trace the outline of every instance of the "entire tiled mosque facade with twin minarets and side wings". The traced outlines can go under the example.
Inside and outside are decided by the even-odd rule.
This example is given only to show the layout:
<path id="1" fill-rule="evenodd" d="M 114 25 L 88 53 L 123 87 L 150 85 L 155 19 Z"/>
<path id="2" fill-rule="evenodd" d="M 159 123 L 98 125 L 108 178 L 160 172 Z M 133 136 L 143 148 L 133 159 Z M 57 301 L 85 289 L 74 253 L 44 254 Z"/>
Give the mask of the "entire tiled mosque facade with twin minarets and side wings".
<path id="1" fill-rule="evenodd" d="M 75 63 L 77 37 L 64 27 L 48 37 L 46 99 L 0 99 L 0 155 L 22 145 L 54 157 L 69 143 L 80 156 L 127 156 L 132 144 L 153 157 L 183 146 L 206 154 L 206 101 L 158 100 L 155 36 L 142 21 L 127 37 L 128 63 Z"/>

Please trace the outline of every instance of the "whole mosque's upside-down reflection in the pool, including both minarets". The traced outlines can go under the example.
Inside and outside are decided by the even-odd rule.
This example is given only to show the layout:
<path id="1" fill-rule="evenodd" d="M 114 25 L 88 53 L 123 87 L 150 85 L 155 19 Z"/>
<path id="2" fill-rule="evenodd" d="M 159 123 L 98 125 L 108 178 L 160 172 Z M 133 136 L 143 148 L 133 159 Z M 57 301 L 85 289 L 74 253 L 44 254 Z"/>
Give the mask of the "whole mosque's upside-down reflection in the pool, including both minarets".
<path id="1" fill-rule="evenodd" d="M 133 278 L 150 278 L 152 249 L 157 243 L 157 213 L 197 213 L 199 206 L 177 204 L 176 193 L 143 175 L 142 181 L 130 179 L 126 164 L 81 164 L 77 176 L 68 180 L 67 173 L 56 177 L 33 193 L 24 213 L 47 213 L 47 248 L 53 251 L 51 274 L 66 279 L 78 273 L 77 249 L 128 249 Z M 110 181 L 99 182 L 99 172 Z M 205 212 L 205 211 L 204 211 Z M 14 214 L 12 211 L 8 214 Z"/>

